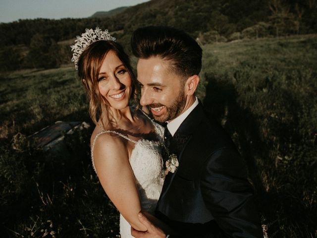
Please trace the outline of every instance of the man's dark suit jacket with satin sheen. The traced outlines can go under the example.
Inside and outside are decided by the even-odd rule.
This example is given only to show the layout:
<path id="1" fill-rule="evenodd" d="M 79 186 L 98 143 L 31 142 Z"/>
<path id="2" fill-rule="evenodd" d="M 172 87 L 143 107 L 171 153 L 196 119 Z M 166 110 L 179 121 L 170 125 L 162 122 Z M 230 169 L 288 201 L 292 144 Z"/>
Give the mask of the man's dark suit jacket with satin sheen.
<path id="1" fill-rule="evenodd" d="M 201 103 L 175 132 L 170 152 L 179 167 L 165 178 L 156 215 L 179 237 L 263 237 L 243 160 Z"/>

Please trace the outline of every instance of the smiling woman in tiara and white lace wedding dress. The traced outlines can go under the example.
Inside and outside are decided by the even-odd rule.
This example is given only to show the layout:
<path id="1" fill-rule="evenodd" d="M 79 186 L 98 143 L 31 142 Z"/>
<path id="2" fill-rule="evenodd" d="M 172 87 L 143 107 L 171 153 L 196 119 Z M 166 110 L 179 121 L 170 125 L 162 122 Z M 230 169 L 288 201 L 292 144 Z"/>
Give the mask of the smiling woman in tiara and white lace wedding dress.
<path id="1" fill-rule="evenodd" d="M 164 128 L 142 110 L 131 112 L 129 102 L 137 100 L 136 77 L 128 56 L 107 30 L 86 29 L 71 48 L 96 124 L 93 168 L 120 212 L 121 238 L 130 238 L 131 226 L 146 231 L 138 213 L 144 209 L 153 214 L 159 199 Z"/>

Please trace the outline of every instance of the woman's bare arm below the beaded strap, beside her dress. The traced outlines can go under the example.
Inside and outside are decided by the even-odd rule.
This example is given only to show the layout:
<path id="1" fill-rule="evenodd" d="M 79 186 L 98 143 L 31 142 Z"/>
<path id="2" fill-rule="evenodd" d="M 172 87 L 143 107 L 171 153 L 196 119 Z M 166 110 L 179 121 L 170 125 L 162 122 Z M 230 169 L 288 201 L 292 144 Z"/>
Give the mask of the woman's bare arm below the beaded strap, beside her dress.
<path id="1" fill-rule="evenodd" d="M 141 203 L 126 144 L 120 137 L 105 133 L 96 140 L 93 154 L 97 175 L 107 196 L 131 227 L 146 231 L 138 219 Z"/>

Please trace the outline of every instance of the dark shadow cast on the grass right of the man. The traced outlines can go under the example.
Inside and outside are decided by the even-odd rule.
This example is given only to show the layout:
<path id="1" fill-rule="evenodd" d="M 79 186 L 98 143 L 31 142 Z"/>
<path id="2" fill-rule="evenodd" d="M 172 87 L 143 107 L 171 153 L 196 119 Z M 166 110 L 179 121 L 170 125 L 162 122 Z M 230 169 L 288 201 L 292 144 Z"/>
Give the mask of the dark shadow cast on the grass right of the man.
<path id="1" fill-rule="evenodd" d="M 301 185 L 298 184 L 301 182 L 292 184 L 290 179 L 290 174 L 296 173 L 303 181 L 310 179 L 310 175 L 304 172 L 305 165 L 301 164 L 299 168 L 296 168 L 295 164 L 287 165 L 282 169 L 276 167 L 274 165 L 275 148 L 272 148 L 272 143 L 265 141 L 265 136 L 261 134 L 263 133 L 261 117 L 240 106 L 241 98 L 232 83 L 215 78 L 213 75 L 206 75 L 206 80 L 208 85 L 203 104 L 212 117 L 229 133 L 246 161 L 249 178 L 255 187 L 256 203 L 262 222 L 269 225 L 269 237 L 313 237 L 314 217 L 316 217 L 313 215 L 314 206 L 307 207 L 307 203 L 303 201 L 300 195 L 303 188 L 301 190 Z M 292 105 L 296 108 L 296 105 L 291 102 L 290 95 L 281 93 L 284 98 L 290 100 L 286 102 L 289 105 L 285 107 Z M 297 141 L 297 135 L 291 134 L 289 128 L 286 128 L 295 125 L 296 118 L 286 124 L 271 124 L 271 129 L 274 130 L 271 133 L 279 129 L 281 131 L 277 133 L 277 136 L 293 136 L 296 138 L 296 143 L 300 144 L 300 140 Z M 283 139 L 281 138 L 281 141 Z M 299 160 L 301 160 L 300 157 Z M 307 171 L 313 173 L 314 170 Z M 271 178 L 266 180 L 263 177 L 265 174 Z"/>

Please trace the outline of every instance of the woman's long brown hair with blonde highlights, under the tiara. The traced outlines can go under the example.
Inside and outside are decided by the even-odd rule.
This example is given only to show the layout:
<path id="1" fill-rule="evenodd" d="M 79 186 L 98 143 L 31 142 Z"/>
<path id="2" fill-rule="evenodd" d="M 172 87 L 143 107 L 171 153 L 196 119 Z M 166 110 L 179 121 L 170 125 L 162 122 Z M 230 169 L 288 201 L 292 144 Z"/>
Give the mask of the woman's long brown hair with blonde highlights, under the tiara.
<path id="1" fill-rule="evenodd" d="M 97 125 L 98 120 L 103 123 L 104 129 L 114 127 L 113 115 L 109 110 L 109 103 L 99 92 L 98 88 L 98 76 L 102 63 L 109 51 L 113 51 L 116 56 L 122 61 L 130 74 L 132 84 L 130 101 L 134 101 L 136 106 L 139 106 L 137 98 L 137 80 L 136 76 L 130 65 L 129 57 L 125 54 L 123 48 L 113 41 L 96 41 L 89 45 L 87 49 L 81 54 L 78 61 L 78 75 L 82 79 L 85 86 L 85 91 L 89 100 L 89 114 L 91 119 Z M 105 103 L 103 103 L 105 102 Z M 103 118 L 106 115 L 106 120 Z M 107 123 L 104 124 L 104 121 Z"/>

